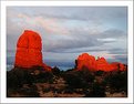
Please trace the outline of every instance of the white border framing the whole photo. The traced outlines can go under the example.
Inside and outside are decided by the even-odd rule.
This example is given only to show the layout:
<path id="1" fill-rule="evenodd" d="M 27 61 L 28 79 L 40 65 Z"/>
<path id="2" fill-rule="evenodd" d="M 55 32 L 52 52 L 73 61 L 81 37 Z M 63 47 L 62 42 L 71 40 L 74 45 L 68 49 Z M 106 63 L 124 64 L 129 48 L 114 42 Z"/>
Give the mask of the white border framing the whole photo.
<path id="1" fill-rule="evenodd" d="M 54 97 L 7 97 L 7 7 L 127 7 L 127 61 L 128 61 L 128 95 L 127 97 L 104 98 L 54 98 Z M 133 2 L 132 1 L 1 1 L 1 103 L 133 103 Z"/>

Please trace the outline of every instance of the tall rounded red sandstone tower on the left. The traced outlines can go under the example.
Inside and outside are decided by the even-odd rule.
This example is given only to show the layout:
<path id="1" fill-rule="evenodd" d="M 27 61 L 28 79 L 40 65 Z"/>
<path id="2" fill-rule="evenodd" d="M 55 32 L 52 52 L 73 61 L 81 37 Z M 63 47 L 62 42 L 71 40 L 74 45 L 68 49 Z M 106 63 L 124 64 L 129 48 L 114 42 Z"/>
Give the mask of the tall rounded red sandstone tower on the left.
<path id="1" fill-rule="evenodd" d="M 42 66 L 47 71 L 51 71 L 51 67 L 43 63 L 41 41 L 39 33 L 31 30 L 24 30 L 17 43 L 14 66 Z"/>

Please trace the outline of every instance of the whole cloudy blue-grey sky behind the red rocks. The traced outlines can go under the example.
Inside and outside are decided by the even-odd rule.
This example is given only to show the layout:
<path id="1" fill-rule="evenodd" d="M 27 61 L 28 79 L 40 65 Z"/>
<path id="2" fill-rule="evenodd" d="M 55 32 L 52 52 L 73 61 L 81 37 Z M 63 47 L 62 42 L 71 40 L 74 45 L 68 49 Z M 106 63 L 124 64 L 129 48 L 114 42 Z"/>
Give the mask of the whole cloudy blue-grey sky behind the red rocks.
<path id="1" fill-rule="evenodd" d="M 17 41 L 24 30 L 42 38 L 43 61 L 74 64 L 82 53 L 127 62 L 126 7 L 8 7 L 7 60 L 14 62 Z"/>

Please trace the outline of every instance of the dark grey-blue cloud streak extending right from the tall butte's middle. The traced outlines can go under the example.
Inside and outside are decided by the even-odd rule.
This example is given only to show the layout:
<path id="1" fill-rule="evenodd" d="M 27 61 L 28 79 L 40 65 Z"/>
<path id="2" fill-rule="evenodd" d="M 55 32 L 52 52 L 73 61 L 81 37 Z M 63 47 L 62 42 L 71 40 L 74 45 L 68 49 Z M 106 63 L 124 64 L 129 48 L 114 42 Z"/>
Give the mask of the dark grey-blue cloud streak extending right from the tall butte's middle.
<path id="1" fill-rule="evenodd" d="M 45 51 L 51 52 L 63 52 L 69 49 L 76 49 L 76 48 L 86 48 L 86 46 L 93 46 L 93 45 L 101 45 L 101 42 L 97 42 L 94 39 L 72 39 L 72 40 L 59 40 L 59 41 L 52 41 L 50 44 L 44 44 Z"/>

